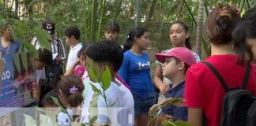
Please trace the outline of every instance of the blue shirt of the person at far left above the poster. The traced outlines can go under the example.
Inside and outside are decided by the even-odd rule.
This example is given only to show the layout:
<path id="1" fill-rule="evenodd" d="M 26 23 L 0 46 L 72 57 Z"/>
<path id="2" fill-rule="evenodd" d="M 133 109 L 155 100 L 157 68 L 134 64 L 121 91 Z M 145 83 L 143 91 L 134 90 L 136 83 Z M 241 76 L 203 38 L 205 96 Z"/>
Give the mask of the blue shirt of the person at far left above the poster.
<path id="1" fill-rule="evenodd" d="M 21 42 L 14 40 L 13 43 L 10 43 L 9 46 L 3 47 L 2 46 L 2 39 L 0 39 L 0 51 L 2 52 L 2 55 L 7 54 L 16 54 L 18 50 L 20 49 Z"/>

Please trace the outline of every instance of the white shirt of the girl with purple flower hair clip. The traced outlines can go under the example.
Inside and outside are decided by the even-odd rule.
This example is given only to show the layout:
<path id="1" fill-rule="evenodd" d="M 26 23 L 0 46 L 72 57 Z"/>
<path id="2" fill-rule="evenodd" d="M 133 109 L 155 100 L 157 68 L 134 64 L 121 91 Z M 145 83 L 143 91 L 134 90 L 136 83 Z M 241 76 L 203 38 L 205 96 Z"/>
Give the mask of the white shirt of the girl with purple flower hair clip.
<path id="1" fill-rule="evenodd" d="M 66 125 L 71 125 L 72 122 L 71 120 L 73 120 L 73 111 L 72 109 L 66 109 L 66 111 L 68 112 L 69 115 L 67 115 L 66 113 L 58 113 L 57 115 L 57 119 L 58 119 L 58 124 L 60 126 L 66 126 Z M 69 117 L 70 116 L 70 117 Z M 71 118 L 71 120 L 70 120 Z"/>

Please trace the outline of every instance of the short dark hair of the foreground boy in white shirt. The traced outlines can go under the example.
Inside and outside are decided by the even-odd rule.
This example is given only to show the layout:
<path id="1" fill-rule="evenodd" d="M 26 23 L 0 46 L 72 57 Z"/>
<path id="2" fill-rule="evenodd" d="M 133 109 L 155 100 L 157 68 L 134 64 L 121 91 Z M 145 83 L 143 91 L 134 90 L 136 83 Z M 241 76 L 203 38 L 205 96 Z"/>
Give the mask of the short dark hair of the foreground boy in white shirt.
<path id="1" fill-rule="evenodd" d="M 115 72 L 119 71 L 122 65 L 122 48 L 111 39 L 93 43 L 85 50 L 85 54 L 95 62 L 111 64 Z"/>

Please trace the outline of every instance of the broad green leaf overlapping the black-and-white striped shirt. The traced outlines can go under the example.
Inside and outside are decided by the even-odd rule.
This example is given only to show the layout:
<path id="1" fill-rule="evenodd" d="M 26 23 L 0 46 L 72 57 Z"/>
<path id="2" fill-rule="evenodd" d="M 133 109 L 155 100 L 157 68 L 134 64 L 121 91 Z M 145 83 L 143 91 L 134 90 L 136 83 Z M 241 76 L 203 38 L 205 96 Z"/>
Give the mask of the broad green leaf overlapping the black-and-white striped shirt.
<path id="1" fill-rule="evenodd" d="M 51 39 L 51 35 L 47 31 L 42 29 L 34 29 L 34 35 L 36 35 L 40 46 L 43 46 L 47 50 L 51 50 L 51 44 L 48 41 L 48 39 Z"/>

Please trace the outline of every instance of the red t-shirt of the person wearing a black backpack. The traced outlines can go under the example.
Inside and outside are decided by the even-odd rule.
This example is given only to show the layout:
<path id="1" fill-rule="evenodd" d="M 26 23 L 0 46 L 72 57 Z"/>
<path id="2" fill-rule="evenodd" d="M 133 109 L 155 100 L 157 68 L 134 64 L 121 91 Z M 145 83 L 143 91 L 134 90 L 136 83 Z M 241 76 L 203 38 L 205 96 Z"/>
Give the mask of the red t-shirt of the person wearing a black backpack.
<path id="1" fill-rule="evenodd" d="M 241 87 L 246 68 L 236 65 L 234 54 L 213 55 L 209 61 L 224 78 L 228 87 Z M 256 65 L 252 64 L 247 90 L 256 95 Z M 216 76 L 202 63 L 192 65 L 186 72 L 185 105 L 191 109 L 202 109 L 208 126 L 219 126 L 222 104 L 226 92 Z"/>

